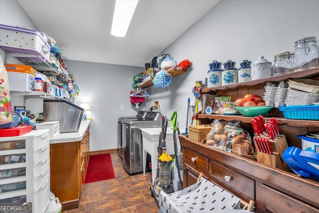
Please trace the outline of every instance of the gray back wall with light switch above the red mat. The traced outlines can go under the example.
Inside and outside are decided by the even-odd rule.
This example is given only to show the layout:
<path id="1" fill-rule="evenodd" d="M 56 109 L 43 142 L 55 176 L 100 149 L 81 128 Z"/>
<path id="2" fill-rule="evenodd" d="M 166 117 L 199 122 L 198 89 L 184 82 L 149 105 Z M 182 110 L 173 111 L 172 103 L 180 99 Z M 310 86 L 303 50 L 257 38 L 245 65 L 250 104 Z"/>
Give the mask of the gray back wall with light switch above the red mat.
<path id="1" fill-rule="evenodd" d="M 130 91 L 133 76 L 143 68 L 73 60 L 65 60 L 65 64 L 81 89 L 75 103 L 86 102 L 93 107 L 90 151 L 117 148 L 118 117 L 138 112 L 130 103 Z"/>

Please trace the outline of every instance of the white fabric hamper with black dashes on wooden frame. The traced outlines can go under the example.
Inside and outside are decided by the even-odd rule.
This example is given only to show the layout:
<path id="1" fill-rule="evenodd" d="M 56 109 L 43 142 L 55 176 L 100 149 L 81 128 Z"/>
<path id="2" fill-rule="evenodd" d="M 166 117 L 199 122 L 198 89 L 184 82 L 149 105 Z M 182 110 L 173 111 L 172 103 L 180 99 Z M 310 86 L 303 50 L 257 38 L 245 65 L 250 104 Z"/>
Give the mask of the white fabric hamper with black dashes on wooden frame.
<path id="1" fill-rule="evenodd" d="M 222 213 L 240 209 L 240 199 L 203 178 L 183 190 L 160 191 L 160 213 Z"/>

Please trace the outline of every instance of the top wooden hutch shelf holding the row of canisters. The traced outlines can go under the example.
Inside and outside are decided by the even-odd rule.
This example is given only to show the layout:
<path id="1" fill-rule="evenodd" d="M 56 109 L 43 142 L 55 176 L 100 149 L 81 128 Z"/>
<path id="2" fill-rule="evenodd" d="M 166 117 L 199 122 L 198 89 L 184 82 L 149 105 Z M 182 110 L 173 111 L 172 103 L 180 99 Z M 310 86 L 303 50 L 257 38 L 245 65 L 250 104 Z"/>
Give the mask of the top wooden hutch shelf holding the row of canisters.
<path id="1" fill-rule="evenodd" d="M 248 86 L 257 86 L 263 83 L 266 83 L 268 81 L 287 81 L 288 79 L 297 79 L 297 78 L 311 78 L 311 77 L 316 77 L 319 76 L 319 68 L 314 68 L 314 69 L 309 69 L 309 70 L 304 70 L 304 71 L 299 71 L 299 72 L 292 72 L 284 75 L 278 75 L 278 76 L 272 76 L 268 78 L 262 78 L 258 80 L 253 80 L 253 81 L 246 81 L 243 83 L 235 83 L 235 84 L 229 84 L 225 86 L 217 86 L 217 87 L 200 87 L 199 88 L 199 93 L 200 94 L 209 94 L 209 93 L 215 93 L 218 90 L 227 90 L 227 89 L 236 89 L 239 87 L 248 87 Z"/>

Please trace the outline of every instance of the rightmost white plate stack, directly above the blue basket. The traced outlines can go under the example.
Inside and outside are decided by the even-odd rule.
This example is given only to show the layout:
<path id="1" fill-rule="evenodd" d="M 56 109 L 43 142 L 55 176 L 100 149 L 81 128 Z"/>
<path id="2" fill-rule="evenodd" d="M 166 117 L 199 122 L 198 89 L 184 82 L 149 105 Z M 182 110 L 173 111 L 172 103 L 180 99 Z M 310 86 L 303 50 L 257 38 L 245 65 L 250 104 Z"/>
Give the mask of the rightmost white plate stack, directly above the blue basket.
<path id="1" fill-rule="evenodd" d="M 312 105 L 319 101 L 319 93 L 310 93 L 288 88 L 285 104 L 286 105 Z"/>

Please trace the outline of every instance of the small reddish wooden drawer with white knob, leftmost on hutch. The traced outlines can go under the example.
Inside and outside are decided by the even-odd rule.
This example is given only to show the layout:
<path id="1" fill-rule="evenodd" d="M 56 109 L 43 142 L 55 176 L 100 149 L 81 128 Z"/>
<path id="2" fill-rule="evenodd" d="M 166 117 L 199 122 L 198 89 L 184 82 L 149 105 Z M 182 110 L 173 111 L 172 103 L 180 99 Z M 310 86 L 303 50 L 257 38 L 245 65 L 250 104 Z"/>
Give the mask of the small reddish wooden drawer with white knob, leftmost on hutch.
<path id="1" fill-rule="evenodd" d="M 194 169 L 201 169 L 206 174 L 208 173 L 208 159 L 198 155 L 188 149 L 185 149 L 184 160 L 188 162 Z"/>

